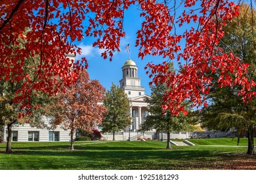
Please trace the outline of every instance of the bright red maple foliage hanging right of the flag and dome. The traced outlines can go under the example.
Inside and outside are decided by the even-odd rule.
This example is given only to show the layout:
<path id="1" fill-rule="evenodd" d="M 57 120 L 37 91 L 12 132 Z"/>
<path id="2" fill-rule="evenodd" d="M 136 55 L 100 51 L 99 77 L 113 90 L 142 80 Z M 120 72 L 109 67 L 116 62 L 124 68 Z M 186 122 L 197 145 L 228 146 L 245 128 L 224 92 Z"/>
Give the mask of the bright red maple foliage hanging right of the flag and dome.
<path id="1" fill-rule="evenodd" d="M 165 93 L 163 110 L 169 109 L 173 114 L 178 114 L 179 111 L 186 114 L 181 105 L 184 99 L 190 99 L 195 106 L 202 105 L 203 95 L 209 93 L 209 84 L 213 80 L 211 76 L 206 75 L 207 73 L 220 73 L 219 87 L 232 87 L 236 84 L 242 86 L 238 94 L 244 95 L 244 101 L 256 95 L 255 92 L 249 92 L 255 87 L 255 82 L 248 80 L 245 76 L 248 65 L 242 63 L 232 51 L 226 54 L 223 53 L 222 48 L 218 47 L 224 36 L 223 27 L 226 25 L 224 20 L 232 20 L 234 16 L 238 16 L 239 6 L 228 1 L 202 1 L 200 8 L 196 11 L 193 8 L 195 3 L 196 1 L 185 1 L 184 5 L 188 10 L 184 10 L 177 20 L 174 15 L 169 14 L 168 20 L 164 23 L 154 25 L 158 29 L 154 34 L 146 31 L 140 34 L 140 37 L 144 37 L 142 56 L 149 53 L 146 50 L 150 50 L 152 54 L 160 54 L 167 59 L 177 59 L 179 64 L 185 63 L 181 65 L 179 73 L 170 72 L 165 62 L 160 65 L 148 63 L 146 67 L 150 71 L 150 77 L 153 76 L 154 84 L 167 83 L 168 90 Z M 167 13 L 163 5 L 161 10 L 165 11 L 163 14 Z M 150 22 L 154 20 L 150 18 Z M 196 27 L 179 32 L 179 35 L 171 33 L 171 30 L 176 29 L 178 25 L 182 27 L 190 22 L 194 22 Z M 146 24 L 150 23 L 146 22 L 145 27 Z M 146 42 L 148 39 L 154 39 L 154 44 Z M 184 48 L 179 46 L 181 41 L 186 41 Z M 138 42 L 137 45 L 139 44 L 141 45 Z M 231 75 L 235 75 L 234 79 Z M 204 101 L 203 105 L 207 106 L 207 102 Z"/>

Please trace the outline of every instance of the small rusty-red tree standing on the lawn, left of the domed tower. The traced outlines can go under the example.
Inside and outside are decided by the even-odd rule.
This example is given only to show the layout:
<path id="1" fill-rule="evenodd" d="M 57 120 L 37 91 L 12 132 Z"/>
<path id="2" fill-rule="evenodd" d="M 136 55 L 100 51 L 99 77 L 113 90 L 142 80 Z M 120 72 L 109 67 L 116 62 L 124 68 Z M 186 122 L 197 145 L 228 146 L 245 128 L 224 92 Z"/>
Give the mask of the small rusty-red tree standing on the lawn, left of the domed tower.
<path id="1" fill-rule="evenodd" d="M 74 150 L 76 129 L 91 131 L 101 124 L 105 108 L 100 105 L 104 99 L 105 88 L 98 80 L 89 80 L 87 71 L 81 71 L 75 84 L 58 95 L 59 105 L 54 114 L 53 125 L 70 129 L 70 150 Z"/>

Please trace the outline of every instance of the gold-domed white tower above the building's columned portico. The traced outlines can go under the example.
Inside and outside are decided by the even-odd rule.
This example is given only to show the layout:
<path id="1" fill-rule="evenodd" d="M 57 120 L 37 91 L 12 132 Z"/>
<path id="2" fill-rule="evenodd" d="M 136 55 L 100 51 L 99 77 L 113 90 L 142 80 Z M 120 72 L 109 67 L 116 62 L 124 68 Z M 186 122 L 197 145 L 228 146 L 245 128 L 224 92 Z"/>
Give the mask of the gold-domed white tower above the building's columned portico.
<path id="1" fill-rule="evenodd" d="M 145 89 L 140 86 L 140 78 L 138 77 L 138 67 L 136 63 L 128 59 L 122 67 L 123 78 L 119 81 L 120 88 L 123 88 L 129 98 L 144 95 Z"/>

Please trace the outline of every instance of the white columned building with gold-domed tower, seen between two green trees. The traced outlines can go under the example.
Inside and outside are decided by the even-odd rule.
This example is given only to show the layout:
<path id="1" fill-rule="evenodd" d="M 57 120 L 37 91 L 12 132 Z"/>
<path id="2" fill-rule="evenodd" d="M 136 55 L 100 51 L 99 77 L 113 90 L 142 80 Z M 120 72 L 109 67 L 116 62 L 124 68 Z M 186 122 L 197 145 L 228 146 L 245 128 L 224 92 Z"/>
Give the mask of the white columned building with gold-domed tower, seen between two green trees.
<path id="1" fill-rule="evenodd" d="M 140 128 L 140 124 L 144 122 L 144 117 L 148 115 L 148 104 L 144 101 L 145 89 L 140 86 L 140 78 L 138 77 L 138 67 L 131 59 L 127 60 L 123 67 L 123 78 L 119 80 L 120 87 L 127 93 L 130 100 L 130 111 L 132 115 L 132 125 L 130 129 L 136 131 Z"/>

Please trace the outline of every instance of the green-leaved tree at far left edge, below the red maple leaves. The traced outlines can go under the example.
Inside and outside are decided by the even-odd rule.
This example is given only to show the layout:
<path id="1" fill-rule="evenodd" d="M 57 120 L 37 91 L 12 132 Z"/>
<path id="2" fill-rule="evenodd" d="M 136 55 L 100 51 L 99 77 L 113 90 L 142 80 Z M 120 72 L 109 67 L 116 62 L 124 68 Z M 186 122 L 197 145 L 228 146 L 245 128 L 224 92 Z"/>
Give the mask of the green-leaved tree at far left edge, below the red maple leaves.
<path id="1" fill-rule="evenodd" d="M 29 69 L 26 70 L 30 74 Z M 43 92 L 33 90 L 32 95 L 26 96 L 27 100 L 30 100 L 30 105 L 22 107 L 22 103 L 14 102 L 14 97 L 19 95 L 18 91 L 22 88 L 23 80 L 20 82 L 11 79 L 0 80 L 0 83 L 0 126 L 5 127 L 7 125 L 6 152 L 11 153 L 12 125 L 29 123 L 33 127 L 42 127 L 41 116 L 43 113 L 41 112 L 43 106 L 51 101 L 51 97 Z M 41 109 L 39 109 L 40 107 Z M 2 137 L 4 137 L 3 134 Z M 4 139 L 2 140 L 4 141 Z"/>

